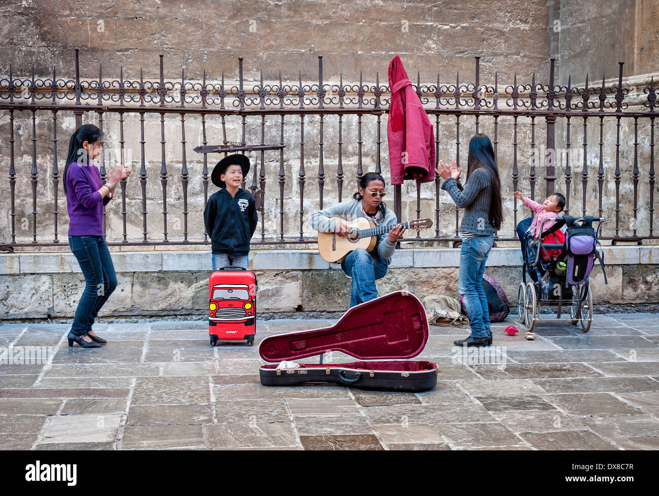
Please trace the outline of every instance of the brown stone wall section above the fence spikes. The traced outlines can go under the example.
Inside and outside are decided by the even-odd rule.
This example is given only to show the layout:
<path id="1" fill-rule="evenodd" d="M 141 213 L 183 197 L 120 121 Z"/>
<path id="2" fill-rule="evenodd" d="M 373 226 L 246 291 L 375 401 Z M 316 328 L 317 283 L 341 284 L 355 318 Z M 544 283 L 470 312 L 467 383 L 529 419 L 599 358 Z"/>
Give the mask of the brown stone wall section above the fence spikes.
<path id="1" fill-rule="evenodd" d="M 516 0 L 477 2 L 448 0 L 25 0 L 3 9 L 2 71 L 5 62 L 27 74 L 71 73 L 72 47 L 80 47 L 82 77 L 127 74 L 158 77 L 158 55 L 165 71 L 178 77 L 181 67 L 201 78 L 219 79 L 222 71 L 237 77 L 238 57 L 246 76 L 304 80 L 317 76 L 317 56 L 324 55 L 325 76 L 358 80 L 363 71 L 386 78 L 387 65 L 398 53 L 423 79 L 445 77 L 450 68 L 473 71 L 473 56 L 484 55 L 485 71 L 512 78 L 515 67 L 546 72 L 550 5 Z M 381 79 L 382 80 L 382 79 Z"/>

